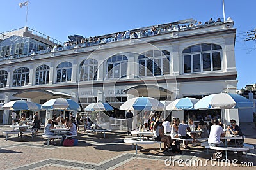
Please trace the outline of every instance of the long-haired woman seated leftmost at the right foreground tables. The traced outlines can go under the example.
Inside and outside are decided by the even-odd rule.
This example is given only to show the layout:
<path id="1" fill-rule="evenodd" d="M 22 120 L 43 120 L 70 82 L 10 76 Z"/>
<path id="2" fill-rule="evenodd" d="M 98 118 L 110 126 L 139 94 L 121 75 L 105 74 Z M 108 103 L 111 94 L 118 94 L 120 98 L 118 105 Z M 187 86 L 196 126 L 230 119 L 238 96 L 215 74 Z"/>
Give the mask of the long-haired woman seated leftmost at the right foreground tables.
<path id="1" fill-rule="evenodd" d="M 154 135 L 155 141 L 161 141 L 164 143 L 163 150 L 164 152 L 166 152 L 166 149 L 170 148 L 170 140 L 168 136 L 164 136 L 162 122 L 157 121 L 156 124 L 154 124 L 153 135 Z"/>

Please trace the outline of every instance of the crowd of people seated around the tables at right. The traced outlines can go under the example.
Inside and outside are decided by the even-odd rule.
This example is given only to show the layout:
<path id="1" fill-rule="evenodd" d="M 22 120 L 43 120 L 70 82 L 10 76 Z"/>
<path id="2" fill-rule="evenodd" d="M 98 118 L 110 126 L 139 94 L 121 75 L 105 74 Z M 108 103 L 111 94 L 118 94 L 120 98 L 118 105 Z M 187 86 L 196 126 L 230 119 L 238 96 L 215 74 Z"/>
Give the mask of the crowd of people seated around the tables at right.
<path id="1" fill-rule="evenodd" d="M 128 112 L 127 120 L 132 120 L 131 111 Z M 151 113 L 147 115 L 147 112 L 144 113 L 144 123 L 142 126 L 140 124 L 139 130 L 147 129 L 152 131 L 154 139 L 156 141 L 161 141 L 164 143 L 164 151 L 173 150 L 173 145 L 175 146 L 175 138 L 182 139 L 193 139 L 192 145 L 196 146 L 197 138 L 207 138 L 209 146 L 224 146 L 221 141 L 221 136 L 224 134 L 234 134 L 240 135 L 243 137 L 243 133 L 240 127 L 236 124 L 236 120 L 230 120 L 230 125 L 224 127 L 223 122 L 220 119 L 214 116 L 214 119 L 211 118 L 211 115 L 206 115 L 199 120 L 198 124 L 194 124 L 193 118 L 189 118 L 188 123 L 185 123 L 186 120 L 180 122 L 179 118 L 173 118 L 172 122 L 162 118 L 160 119 L 158 114 Z M 205 120 L 211 120 L 211 124 L 205 124 Z M 138 121 L 138 120 L 137 120 Z M 137 124 L 138 125 L 138 124 Z M 131 123 L 127 122 L 128 126 L 128 136 L 131 131 Z M 200 133 L 195 133 L 191 131 L 200 131 Z M 236 145 L 243 145 L 244 139 L 238 139 Z M 184 149 L 189 149 L 188 146 L 189 140 L 184 141 Z M 234 140 L 230 140 L 228 145 L 235 145 Z M 175 148 L 175 147 L 174 147 Z M 239 154 L 241 154 L 239 152 Z"/>

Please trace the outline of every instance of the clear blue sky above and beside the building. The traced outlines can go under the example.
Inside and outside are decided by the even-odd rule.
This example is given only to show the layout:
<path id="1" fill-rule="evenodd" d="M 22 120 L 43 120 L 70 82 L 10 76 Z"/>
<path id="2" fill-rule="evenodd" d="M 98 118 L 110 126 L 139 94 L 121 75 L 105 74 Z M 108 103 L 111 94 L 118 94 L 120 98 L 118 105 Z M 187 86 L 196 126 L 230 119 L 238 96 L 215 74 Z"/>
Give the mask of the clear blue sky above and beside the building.
<path id="1" fill-rule="evenodd" d="M 26 0 L 1 0 L 0 32 L 24 27 Z M 255 0 L 225 0 L 226 17 L 235 21 L 237 89 L 256 83 L 256 41 L 246 41 L 246 31 L 255 29 Z M 59 41 L 80 34 L 85 37 L 126 31 L 138 27 L 194 18 L 223 18 L 222 0 L 30 0 L 27 26 Z"/>

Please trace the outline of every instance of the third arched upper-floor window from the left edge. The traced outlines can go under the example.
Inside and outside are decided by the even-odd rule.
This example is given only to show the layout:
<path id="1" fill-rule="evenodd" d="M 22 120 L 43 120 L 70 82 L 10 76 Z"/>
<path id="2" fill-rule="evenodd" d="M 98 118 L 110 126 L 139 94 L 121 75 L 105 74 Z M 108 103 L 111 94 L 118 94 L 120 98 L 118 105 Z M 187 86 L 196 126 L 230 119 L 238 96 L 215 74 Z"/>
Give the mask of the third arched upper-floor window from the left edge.
<path id="1" fill-rule="evenodd" d="M 43 64 L 36 68 L 36 85 L 45 85 L 49 83 L 50 67 Z"/>

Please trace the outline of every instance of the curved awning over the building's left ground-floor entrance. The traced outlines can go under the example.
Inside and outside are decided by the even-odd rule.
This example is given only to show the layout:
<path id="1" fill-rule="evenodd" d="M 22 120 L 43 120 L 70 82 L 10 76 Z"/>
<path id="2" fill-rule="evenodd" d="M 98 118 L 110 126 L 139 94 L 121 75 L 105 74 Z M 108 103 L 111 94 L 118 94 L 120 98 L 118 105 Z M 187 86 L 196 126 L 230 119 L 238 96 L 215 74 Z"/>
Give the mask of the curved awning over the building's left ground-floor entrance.
<path id="1" fill-rule="evenodd" d="M 56 92 L 52 90 L 24 90 L 22 92 L 17 92 L 16 94 L 13 94 L 13 96 L 33 99 L 35 97 L 44 96 L 47 94 L 52 97 L 66 97 L 66 98 L 71 97 L 70 94 L 66 94 L 63 92 Z"/>

